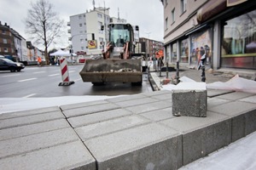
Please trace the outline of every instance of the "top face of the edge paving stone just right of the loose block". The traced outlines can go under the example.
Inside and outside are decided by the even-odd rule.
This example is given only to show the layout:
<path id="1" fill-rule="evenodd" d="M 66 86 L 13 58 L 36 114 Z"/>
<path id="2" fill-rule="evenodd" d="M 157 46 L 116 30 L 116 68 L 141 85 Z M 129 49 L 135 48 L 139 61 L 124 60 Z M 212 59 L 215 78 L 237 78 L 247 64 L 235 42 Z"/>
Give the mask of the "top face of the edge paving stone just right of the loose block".
<path id="1" fill-rule="evenodd" d="M 253 109 L 256 109 L 256 105 L 253 103 L 232 101 L 230 103 L 209 108 L 208 111 L 213 111 L 229 116 L 238 116 L 246 113 L 247 111 L 252 111 Z"/>

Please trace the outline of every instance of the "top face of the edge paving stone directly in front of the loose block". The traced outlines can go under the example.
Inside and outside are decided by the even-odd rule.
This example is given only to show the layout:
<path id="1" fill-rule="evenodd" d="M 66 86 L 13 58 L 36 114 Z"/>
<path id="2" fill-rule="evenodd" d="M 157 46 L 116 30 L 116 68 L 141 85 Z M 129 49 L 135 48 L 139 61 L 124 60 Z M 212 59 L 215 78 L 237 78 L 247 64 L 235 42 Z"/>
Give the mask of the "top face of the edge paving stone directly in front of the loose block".
<path id="1" fill-rule="evenodd" d="M 207 117 L 176 116 L 176 118 L 160 121 L 160 123 L 185 134 L 228 119 L 230 119 L 230 116 L 208 111 Z"/>

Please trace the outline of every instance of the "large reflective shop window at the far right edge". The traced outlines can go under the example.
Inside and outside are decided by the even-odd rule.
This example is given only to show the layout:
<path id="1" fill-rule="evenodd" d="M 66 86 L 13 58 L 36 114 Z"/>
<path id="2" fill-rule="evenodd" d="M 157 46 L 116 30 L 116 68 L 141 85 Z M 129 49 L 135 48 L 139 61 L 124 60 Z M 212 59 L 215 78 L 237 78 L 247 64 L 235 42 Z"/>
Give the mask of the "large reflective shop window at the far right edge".
<path id="1" fill-rule="evenodd" d="M 225 20 L 221 66 L 256 69 L 256 10 Z"/>

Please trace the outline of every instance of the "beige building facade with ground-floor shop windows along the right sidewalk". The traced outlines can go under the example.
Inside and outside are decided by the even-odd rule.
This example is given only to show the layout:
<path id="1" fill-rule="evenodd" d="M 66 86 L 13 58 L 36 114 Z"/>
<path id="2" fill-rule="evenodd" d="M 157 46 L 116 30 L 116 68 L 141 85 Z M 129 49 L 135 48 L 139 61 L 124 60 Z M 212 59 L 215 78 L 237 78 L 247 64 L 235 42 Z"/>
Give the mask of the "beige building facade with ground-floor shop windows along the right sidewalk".
<path id="1" fill-rule="evenodd" d="M 165 58 L 213 70 L 256 70 L 256 1 L 161 0 Z"/>

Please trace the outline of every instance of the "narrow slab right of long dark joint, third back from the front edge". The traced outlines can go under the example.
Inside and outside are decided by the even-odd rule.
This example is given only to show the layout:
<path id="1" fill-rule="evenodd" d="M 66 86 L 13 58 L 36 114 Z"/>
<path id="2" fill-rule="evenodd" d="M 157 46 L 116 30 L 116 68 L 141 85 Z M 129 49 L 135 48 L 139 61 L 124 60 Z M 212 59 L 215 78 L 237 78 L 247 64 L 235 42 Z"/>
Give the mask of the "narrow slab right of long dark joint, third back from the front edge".
<path id="1" fill-rule="evenodd" d="M 67 120 L 68 122 L 70 122 L 72 127 L 81 127 L 92 123 L 103 122 L 109 119 L 117 118 L 120 116 L 127 116 L 131 114 L 131 111 L 126 111 L 124 109 L 116 109 L 111 111 L 92 113 L 89 115 L 75 116 L 68 118 Z"/>

